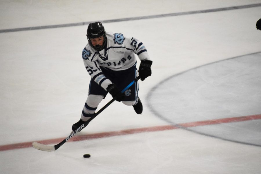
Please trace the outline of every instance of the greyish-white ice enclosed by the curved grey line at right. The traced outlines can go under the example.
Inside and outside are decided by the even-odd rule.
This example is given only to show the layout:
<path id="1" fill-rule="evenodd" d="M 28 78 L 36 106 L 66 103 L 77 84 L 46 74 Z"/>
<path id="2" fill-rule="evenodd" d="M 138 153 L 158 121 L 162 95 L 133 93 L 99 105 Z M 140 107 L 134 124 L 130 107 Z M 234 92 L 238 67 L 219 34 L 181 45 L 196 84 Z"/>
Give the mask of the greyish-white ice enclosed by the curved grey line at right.
<path id="1" fill-rule="evenodd" d="M 261 52 L 173 75 L 146 97 L 151 111 L 180 128 L 222 140 L 261 146 L 261 120 L 182 127 L 185 122 L 261 113 Z M 164 98 L 164 99 L 163 99 Z"/>

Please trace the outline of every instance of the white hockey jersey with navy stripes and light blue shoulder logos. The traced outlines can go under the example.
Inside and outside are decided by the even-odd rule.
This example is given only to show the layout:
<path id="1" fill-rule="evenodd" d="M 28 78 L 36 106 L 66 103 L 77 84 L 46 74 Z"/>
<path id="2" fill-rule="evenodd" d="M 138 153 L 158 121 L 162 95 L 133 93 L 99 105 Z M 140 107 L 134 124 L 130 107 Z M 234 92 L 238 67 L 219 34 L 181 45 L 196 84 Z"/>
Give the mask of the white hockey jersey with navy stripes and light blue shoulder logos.
<path id="1" fill-rule="evenodd" d="M 112 82 L 104 76 L 100 67 L 121 71 L 136 66 L 135 54 L 140 60 L 150 60 L 142 42 L 135 38 L 124 37 L 121 33 L 106 32 L 107 45 L 97 52 L 89 43 L 82 51 L 86 70 L 91 78 L 105 90 Z"/>

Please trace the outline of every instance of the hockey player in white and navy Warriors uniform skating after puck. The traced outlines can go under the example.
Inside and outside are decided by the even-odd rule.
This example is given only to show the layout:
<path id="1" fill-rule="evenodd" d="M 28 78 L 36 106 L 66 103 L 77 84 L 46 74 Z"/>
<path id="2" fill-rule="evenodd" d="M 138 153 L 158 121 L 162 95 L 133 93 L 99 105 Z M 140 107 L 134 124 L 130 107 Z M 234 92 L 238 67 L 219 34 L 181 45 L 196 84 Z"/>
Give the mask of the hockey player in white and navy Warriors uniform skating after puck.
<path id="1" fill-rule="evenodd" d="M 139 40 L 125 37 L 121 33 L 105 32 L 100 22 L 90 23 L 86 36 L 88 43 L 83 49 L 82 58 L 91 80 L 81 119 L 73 124 L 73 131 L 95 114 L 99 103 L 108 92 L 118 102 L 133 106 L 137 114 L 142 113 L 138 82 L 124 94 L 121 93 L 121 90 L 137 77 L 135 54 L 141 61 L 138 71 L 140 79 L 143 81 L 151 76 L 152 61 Z"/>

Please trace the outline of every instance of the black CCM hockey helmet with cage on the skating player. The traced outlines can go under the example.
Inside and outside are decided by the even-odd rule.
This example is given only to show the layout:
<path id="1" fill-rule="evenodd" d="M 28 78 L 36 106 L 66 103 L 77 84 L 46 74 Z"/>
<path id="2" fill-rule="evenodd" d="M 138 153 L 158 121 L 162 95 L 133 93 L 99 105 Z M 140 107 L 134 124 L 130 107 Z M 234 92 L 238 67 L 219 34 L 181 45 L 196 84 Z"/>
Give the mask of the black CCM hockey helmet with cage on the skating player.
<path id="1" fill-rule="evenodd" d="M 94 22 L 90 23 L 87 28 L 87 39 L 91 47 L 93 47 L 97 51 L 101 51 L 104 49 L 105 44 L 107 43 L 107 37 L 106 37 L 106 32 L 104 30 L 104 26 L 102 26 L 101 22 Z M 93 46 L 91 39 L 96 38 L 96 37 L 104 37 L 104 42 L 102 45 L 96 45 L 95 47 Z"/>

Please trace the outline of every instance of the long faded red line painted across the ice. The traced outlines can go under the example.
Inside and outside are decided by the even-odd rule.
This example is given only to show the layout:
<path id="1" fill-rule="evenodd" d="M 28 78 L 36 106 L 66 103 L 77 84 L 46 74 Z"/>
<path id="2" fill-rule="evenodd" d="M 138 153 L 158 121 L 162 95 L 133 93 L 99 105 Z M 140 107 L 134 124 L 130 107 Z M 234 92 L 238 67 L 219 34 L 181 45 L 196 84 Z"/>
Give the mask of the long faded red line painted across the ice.
<path id="1" fill-rule="evenodd" d="M 258 119 L 261 119 L 261 114 L 251 115 L 251 116 L 221 118 L 221 119 L 216 119 L 216 120 L 205 120 L 205 121 L 181 123 L 179 125 L 182 127 L 197 127 L 197 126 L 205 126 L 205 125 L 211 125 L 211 124 L 242 122 L 242 121 L 258 120 Z M 122 131 L 93 133 L 93 134 L 87 134 L 87 135 L 78 135 L 78 136 L 75 135 L 69 141 L 81 141 L 81 140 L 105 138 L 105 137 L 112 137 L 112 136 L 119 136 L 119 135 L 128 135 L 128 134 L 135 134 L 135 133 L 142 133 L 142 132 L 165 131 L 165 130 L 171 130 L 171 129 L 179 129 L 179 127 L 176 127 L 173 125 L 165 125 L 165 126 L 153 126 L 153 127 L 144 127 L 144 128 L 136 128 L 136 129 L 127 129 L 127 130 L 122 130 Z M 42 140 L 42 141 L 37 141 L 37 142 L 39 142 L 41 144 L 57 144 L 64 139 L 65 138 L 56 138 L 56 139 Z M 0 151 L 21 149 L 21 148 L 27 148 L 27 147 L 32 147 L 32 142 L 1 145 Z"/>

